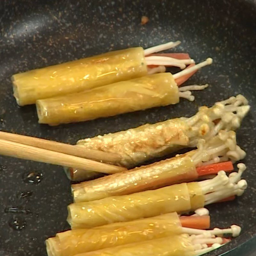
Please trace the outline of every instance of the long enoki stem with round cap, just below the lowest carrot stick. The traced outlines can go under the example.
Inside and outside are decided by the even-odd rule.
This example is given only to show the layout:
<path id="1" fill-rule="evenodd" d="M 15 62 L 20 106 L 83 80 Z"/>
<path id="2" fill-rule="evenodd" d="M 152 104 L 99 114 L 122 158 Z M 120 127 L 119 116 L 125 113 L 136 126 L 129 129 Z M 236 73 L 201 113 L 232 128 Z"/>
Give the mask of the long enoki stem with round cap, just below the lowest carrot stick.
<path id="1" fill-rule="evenodd" d="M 232 225 L 230 228 L 214 228 L 212 230 L 182 228 L 182 233 L 186 233 L 188 235 L 204 235 L 208 237 L 212 237 L 212 236 L 222 237 L 224 234 L 226 234 L 226 235 L 231 235 L 232 237 L 236 237 L 240 235 L 241 227 L 237 225 Z"/>

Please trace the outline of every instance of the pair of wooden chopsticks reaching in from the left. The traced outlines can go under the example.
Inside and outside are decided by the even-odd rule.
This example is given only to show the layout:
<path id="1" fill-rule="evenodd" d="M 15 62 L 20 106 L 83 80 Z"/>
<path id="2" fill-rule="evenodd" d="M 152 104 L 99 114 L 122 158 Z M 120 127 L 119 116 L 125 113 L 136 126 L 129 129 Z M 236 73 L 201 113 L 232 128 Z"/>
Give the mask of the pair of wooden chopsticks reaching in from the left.
<path id="1" fill-rule="evenodd" d="M 121 160 L 118 154 L 9 132 L 0 132 L 0 155 L 109 174 L 127 170 L 113 165 Z"/>

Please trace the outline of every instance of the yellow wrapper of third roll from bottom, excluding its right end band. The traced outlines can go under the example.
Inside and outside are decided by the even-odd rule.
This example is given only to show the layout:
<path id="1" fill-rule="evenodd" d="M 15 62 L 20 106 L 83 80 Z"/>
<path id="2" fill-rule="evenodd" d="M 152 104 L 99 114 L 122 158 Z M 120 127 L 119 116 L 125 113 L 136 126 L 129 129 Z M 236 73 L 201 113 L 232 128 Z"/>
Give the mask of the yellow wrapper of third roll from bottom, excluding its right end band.
<path id="1" fill-rule="evenodd" d="M 182 183 L 131 195 L 70 204 L 67 221 L 72 229 L 93 228 L 164 213 L 186 212 L 190 208 L 188 187 Z"/>

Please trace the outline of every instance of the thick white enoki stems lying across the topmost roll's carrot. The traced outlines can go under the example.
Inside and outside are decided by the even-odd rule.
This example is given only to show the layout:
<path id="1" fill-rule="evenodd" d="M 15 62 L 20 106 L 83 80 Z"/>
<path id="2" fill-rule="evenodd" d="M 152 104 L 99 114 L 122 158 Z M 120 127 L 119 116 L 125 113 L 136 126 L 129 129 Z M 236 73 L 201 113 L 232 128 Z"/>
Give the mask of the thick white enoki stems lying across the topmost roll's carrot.
<path id="1" fill-rule="evenodd" d="M 186 68 L 186 65 L 195 63 L 192 59 L 178 60 L 167 56 L 148 56 L 145 57 L 147 65 L 164 65 L 179 67 L 181 69 Z"/>

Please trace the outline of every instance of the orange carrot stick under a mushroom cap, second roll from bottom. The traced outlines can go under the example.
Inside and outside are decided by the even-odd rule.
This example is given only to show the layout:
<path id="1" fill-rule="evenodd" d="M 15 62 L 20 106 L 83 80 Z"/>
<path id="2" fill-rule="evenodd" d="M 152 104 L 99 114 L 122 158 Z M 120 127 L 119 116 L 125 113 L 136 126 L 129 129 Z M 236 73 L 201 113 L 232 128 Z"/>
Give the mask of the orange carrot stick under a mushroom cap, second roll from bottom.
<path id="1" fill-rule="evenodd" d="M 210 228 L 210 216 L 181 216 L 180 223 L 183 228 L 206 229 Z"/>

